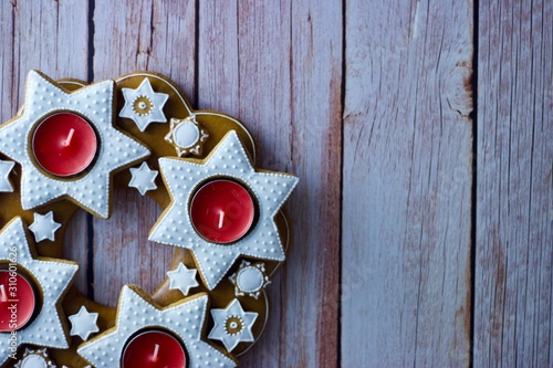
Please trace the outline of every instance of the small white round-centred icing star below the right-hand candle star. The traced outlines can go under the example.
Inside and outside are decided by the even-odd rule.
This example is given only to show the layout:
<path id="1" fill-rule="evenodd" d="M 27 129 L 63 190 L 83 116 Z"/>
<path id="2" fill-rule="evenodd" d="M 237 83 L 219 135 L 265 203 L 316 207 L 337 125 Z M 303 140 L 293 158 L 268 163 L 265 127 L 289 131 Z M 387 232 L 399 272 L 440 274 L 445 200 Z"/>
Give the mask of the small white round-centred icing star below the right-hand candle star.
<path id="1" fill-rule="evenodd" d="M 234 285 L 236 296 L 248 295 L 254 298 L 258 298 L 261 291 L 271 283 L 265 274 L 264 263 L 251 264 L 248 261 L 242 261 L 238 271 L 229 280 Z"/>

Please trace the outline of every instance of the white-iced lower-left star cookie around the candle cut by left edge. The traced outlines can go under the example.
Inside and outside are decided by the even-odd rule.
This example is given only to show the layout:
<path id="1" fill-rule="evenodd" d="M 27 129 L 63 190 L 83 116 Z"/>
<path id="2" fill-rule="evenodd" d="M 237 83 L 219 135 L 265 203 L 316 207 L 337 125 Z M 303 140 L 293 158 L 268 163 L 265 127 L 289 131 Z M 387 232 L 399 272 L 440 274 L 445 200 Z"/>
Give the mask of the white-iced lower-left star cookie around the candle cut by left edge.
<path id="1" fill-rule="evenodd" d="M 31 344 L 43 347 L 65 349 L 69 347 L 69 336 L 63 328 L 63 312 L 61 298 L 69 288 L 79 265 L 63 260 L 39 259 L 30 249 L 23 220 L 13 219 L 0 232 L 0 261 L 12 259 L 17 250 L 18 267 L 27 270 L 42 290 L 42 307 L 39 315 L 18 330 L 17 347 Z M 0 340 L 9 341 L 10 333 L 0 333 Z M 10 344 L 0 344 L 0 366 L 11 354 Z"/>

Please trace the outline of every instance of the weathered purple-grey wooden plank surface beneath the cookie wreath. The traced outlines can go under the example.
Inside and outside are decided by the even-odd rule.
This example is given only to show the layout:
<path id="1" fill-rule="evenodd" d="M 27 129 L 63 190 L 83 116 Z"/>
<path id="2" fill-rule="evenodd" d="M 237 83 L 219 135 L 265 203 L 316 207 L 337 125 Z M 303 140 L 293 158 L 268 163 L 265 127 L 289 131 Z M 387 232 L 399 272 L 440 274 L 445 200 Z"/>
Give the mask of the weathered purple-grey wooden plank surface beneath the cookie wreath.
<path id="1" fill-rule="evenodd" d="M 0 18 L 2 120 L 30 69 L 152 70 L 301 177 L 241 366 L 553 365 L 551 1 L 4 1 Z M 108 221 L 77 214 L 79 287 L 152 291 L 173 257 L 147 241 L 158 215 L 132 190 Z"/>

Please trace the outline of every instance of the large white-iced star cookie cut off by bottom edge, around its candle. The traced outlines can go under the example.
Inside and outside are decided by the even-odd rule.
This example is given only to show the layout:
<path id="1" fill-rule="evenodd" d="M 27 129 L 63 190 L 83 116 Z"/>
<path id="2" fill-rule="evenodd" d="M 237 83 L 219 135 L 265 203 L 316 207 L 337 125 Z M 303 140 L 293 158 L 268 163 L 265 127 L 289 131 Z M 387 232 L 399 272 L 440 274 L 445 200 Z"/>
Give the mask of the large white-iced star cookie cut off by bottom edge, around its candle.
<path id="1" fill-rule="evenodd" d="M 207 304 L 208 296 L 198 294 L 160 309 L 133 286 L 124 286 L 115 327 L 81 345 L 79 354 L 97 368 L 117 367 L 127 340 L 152 327 L 164 328 L 185 344 L 188 368 L 236 367 L 232 359 L 201 339 Z"/>

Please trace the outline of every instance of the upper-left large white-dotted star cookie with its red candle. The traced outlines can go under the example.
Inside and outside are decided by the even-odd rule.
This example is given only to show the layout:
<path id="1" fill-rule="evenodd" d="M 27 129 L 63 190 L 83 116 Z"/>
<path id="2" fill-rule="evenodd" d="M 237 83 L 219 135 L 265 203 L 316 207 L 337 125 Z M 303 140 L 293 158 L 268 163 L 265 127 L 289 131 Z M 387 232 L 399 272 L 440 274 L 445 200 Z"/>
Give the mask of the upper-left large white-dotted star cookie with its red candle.
<path id="1" fill-rule="evenodd" d="M 24 210 L 65 196 L 108 217 L 112 171 L 149 155 L 114 128 L 113 96 L 113 81 L 69 93 L 44 75 L 29 73 L 22 115 L 0 126 L 0 151 L 22 167 Z"/>

